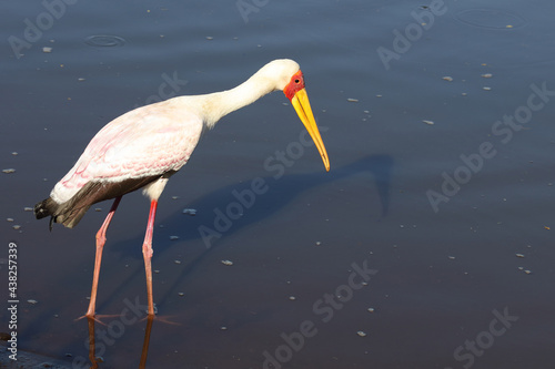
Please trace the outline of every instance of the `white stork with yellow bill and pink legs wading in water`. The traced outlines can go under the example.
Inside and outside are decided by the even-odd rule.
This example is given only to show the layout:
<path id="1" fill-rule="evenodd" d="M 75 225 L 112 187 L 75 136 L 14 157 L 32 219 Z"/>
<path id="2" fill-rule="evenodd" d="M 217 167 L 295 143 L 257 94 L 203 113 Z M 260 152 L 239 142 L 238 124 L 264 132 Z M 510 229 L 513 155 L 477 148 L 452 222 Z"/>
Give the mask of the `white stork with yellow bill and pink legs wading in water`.
<path id="1" fill-rule="evenodd" d="M 143 188 L 151 201 L 142 247 L 149 316 L 152 297 L 152 232 L 158 198 L 168 180 L 191 156 L 201 134 L 225 114 L 249 105 L 263 95 L 282 90 L 309 131 L 326 171 L 330 162 L 304 86 L 303 73 L 293 60 L 274 60 L 239 86 L 211 94 L 178 96 L 138 107 L 108 123 L 91 140 L 75 165 L 60 180 L 50 197 L 34 206 L 38 219 L 74 227 L 92 204 L 115 198 L 97 233 L 97 254 L 91 299 L 87 317 L 94 317 L 97 288 L 105 232 L 123 195 Z"/>

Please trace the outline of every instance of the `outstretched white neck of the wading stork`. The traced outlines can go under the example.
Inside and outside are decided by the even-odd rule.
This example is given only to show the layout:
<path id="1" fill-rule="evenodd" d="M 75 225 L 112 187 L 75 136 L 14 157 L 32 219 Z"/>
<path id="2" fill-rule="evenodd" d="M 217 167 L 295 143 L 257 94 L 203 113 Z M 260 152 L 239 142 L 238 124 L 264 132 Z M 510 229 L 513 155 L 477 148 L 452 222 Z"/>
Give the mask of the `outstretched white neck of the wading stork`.
<path id="1" fill-rule="evenodd" d="M 189 106 L 194 105 L 200 109 L 199 115 L 201 115 L 206 127 L 212 129 L 222 116 L 246 106 L 275 90 L 275 81 L 266 75 L 264 69 L 261 69 L 234 89 L 176 99 Z"/>

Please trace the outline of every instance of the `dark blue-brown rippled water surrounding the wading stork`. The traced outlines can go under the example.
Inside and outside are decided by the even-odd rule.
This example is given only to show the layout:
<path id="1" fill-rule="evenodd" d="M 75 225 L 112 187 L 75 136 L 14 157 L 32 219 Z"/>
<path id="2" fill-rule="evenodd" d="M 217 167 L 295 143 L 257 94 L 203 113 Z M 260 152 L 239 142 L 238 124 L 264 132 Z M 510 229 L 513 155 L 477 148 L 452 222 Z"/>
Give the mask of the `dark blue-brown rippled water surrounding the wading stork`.
<path id="1" fill-rule="evenodd" d="M 19 350 L 87 367 L 75 318 L 110 203 L 52 233 L 24 207 L 113 117 L 292 58 L 332 171 L 282 93 L 203 137 L 159 206 L 154 301 L 179 325 L 154 321 L 147 367 L 553 368 L 552 2 L 52 3 L 0 4 L 0 165 L 16 170 L 0 289 L 14 242 Z M 108 233 L 100 368 L 141 359 L 148 207 L 125 196 Z"/>

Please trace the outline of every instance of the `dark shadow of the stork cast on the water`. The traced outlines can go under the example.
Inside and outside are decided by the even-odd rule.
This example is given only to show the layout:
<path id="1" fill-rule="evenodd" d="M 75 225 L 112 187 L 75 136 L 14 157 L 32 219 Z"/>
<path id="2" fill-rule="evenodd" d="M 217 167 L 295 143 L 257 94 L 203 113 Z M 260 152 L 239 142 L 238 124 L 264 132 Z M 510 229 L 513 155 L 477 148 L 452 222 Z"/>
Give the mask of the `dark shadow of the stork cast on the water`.
<path id="1" fill-rule="evenodd" d="M 192 199 L 185 207 L 196 209 L 198 213 L 195 216 L 188 216 L 180 209 L 165 218 L 157 219 L 158 224 L 164 225 L 164 233 L 165 229 L 169 229 L 168 232 L 172 235 L 179 236 L 180 245 L 185 244 L 186 247 L 195 247 L 198 250 L 195 258 L 188 262 L 182 268 L 179 277 L 174 279 L 173 286 L 168 286 L 168 290 L 176 288 L 176 285 L 183 280 L 183 278 L 186 278 L 188 275 L 194 271 L 195 268 L 202 264 L 204 258 L 219 247 L 219 240 L 221 238 L 229 237 L 244 227 L 272 216 L 286 207 L 287 204 L 293 202 L 296 197 L 312 188 L 325 186 L 326 184 L 353 175 L 360 175 L 361 173 L 369 173 L 373 177 L 373 184 L 377 189 L 381 216 L 386 217 L 391 202 L 390 188 L 393 166 L 394 161 L 389 155 L 370 155 L 354 161 L 351 164 L 334 168 L 330 173 L 313 172 L 292 174 L 283 175 L 279 178 L 274 178 L 273 176 L 258 177 L 241 184 L 221 187 L 205 196 Z M 265 188 L 265 191 L 260 194 L 254 194 L 254 199 L 251 199 L 251 197 L 245 194 L 253 192 L 252 186 L 254 181 L 258 181 L 260 188 Z M 372 186 L 369 185 L 369 188 L 370 187 Z M 370 191 L 371 189 L 369 189 L 369 192 Z M 243 194 L 243 202 L 239 199 L 238 194 Z M 345 196 L 347 196 L 347 194 Z M 232 211 L 228 214 L 230 204 L 235 205 L 230 207 Z M 369 202 L 367 206 L 370 208 L 374 205 Z M 242 209 L 242 214 L 235 216 L 235 213 L 239 214 L 240 208 Z M 228 222 L 221 219 L 221 224 L 219 224 L 220 227 L 214 224 L 219 216 L 218 214 L 220 214 L 220 218 L 222 218 L 221 214 L 223 214 L 223 217 L 228 219 Z M 200 229 L 204 229 L 204 232 Z M 160 228 L 157 228 L 154 232 L 153 263 L 155 263 L 157 256 L 162 255 L 170 248 L 163 246 L 164 240 L 167 244 L 173 243 L 168 242 L 168 238 L 163 238 L 161 235 L 162 232 L 160 230 Z M 120 254 L 121 257 L 130 257 L 130 255 L 133 255 L 137 259 L 142 259 L 140 249 L 143 237 L 144 235 L 142 233 L 137 233 L 133 238 L 121 240 L 109 247 L 117 254 Z M 140 268 L 142 268 L 142 266 Z M 120 288 L 125 288 L 124 286 L 131 283 L 132 278 L 133 277 L 130 276 L 130 280 L 121 280 Z M 113 294 L 118 293 L 117 290 L 113 291 Z M 163 304 L 165 298 L 168 298 L 168 296 L 158 296 L 157 299 L 159 304 Z M 103 300 L 110 300 L 110 297 L 104 297 Z"/>

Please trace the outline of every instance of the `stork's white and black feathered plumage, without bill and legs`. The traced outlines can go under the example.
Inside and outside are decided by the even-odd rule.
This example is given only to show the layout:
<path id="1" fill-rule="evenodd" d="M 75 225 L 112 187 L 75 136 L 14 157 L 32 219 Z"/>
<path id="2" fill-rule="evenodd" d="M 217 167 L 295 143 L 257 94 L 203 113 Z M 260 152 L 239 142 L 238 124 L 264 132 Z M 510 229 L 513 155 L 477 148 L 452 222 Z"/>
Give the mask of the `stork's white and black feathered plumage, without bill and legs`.
<path id="1" fill-rule="evenodd" d="M 178 96 L 114 119 L 97 133 L 75 165 L 56 184 L 50 198 L 38 209 L 39 216 L 51 215 L 53 222 L 71 228 L 92 204 L 179 171 L 205 129 L 285 85 L 286 78 L 276 83 L 275 76 L 292 75 L 295 70 L 299 64 L 294 61 L 274 61 L 232 90 Z"/>

